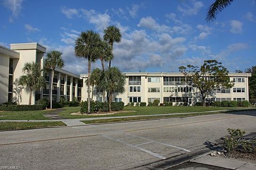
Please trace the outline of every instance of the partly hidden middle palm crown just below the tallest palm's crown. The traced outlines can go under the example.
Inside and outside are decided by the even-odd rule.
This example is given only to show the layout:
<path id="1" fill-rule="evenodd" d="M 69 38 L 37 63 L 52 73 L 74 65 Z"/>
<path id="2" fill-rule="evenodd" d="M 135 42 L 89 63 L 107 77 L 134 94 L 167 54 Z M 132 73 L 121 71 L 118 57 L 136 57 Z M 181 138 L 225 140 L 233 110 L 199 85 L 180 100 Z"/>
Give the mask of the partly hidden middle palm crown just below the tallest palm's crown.
<path id="1" fill-rule="evenodd" d="M 104 62 L 111 61 L 112 59 L 113 53 L 110 45 L 106 41 L 102 41 L 102 54 L 100 55 L 102 71 L 105 71 Z"/>

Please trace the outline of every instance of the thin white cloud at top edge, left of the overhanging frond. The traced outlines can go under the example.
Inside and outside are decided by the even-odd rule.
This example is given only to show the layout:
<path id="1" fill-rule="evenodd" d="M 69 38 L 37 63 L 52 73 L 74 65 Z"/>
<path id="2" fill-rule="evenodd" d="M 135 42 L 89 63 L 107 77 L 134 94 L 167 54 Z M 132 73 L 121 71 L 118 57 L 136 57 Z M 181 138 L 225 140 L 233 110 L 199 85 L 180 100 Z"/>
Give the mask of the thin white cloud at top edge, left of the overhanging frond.
<path id="1" fill-rule="evenodd" d="M 178 11 L 182 12 L 183 15 L 196 15 L 197 12 L 204 6 L 201 1 L 193 1 L 193 5 L 189 6 L 185 3 L 182 6 L 178 6 Z"/>

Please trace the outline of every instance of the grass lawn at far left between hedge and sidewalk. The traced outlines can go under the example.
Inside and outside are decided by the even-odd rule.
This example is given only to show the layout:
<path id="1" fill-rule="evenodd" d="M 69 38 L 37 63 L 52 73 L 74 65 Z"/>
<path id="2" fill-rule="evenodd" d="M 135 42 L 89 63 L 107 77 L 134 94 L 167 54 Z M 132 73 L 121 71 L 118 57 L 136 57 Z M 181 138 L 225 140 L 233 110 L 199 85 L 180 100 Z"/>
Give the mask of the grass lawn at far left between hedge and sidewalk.
<path id="1" fill-rule="evenodd" d="M 49 111 L 4 111 L 0 112 L 0 120 L 49 120 L 43 114 Z"/>

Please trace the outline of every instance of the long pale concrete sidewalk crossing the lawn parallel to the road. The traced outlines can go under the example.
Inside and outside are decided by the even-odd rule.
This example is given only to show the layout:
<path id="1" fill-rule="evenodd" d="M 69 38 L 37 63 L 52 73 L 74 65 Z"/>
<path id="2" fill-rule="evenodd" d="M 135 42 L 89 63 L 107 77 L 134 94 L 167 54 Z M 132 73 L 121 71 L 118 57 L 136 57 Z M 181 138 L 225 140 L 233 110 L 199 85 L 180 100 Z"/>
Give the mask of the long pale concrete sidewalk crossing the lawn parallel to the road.
<path id="1" fill-rule="evenodd" d="M 253 109 L 253 108 L 251 108 Z M 255 109 L 255 108 L 254 108 Z M 250 109 L 247 109 L 250 110 Z M 206 112 L 187 112 L 187 113 L 166 113 L 166 114 L 154 114 L 154 115 L 134 115 L 134 116 L 108 116 L 108 117 L 91 117 L 91 118 L 74 118 L 74 119 L 59 119 L 59 120 L 0 120 L 0 122 L 55 122 L 61 121 L 67 124 L 67 126 L 79 126 L 85 125 L 80 121 L 91 121 L 91 120 L 102 120 L 102 119 L 110 119 L 110 118 L 127 118 L 127 117 L 149 117 L 149 116 L 167 116 L 167 115 L 185 115 L 185 114 L 195 114 L 195 113 L 215 113 L 215 112 L 227 112 L 232 110 L 219 110 L 219 111 L 206 111 Z M 239 109 L 235 109 L 234 111 L 239 111 Z M 241 109 L 243 112 L 244 109 Z M 246 111 L 245 111 L 246 112 Z"/>

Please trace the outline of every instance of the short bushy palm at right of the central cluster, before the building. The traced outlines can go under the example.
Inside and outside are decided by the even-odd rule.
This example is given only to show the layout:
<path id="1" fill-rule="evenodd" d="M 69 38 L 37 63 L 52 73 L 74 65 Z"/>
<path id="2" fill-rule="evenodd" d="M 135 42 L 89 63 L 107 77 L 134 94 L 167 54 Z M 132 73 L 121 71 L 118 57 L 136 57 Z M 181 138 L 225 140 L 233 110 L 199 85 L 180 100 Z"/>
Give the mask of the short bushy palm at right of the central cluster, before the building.
<path id="1" fill-rule="evenodd" d="M 117 67 L 109 68 L 103 75 L 104 78 L 101 79 L 99 88 L 109 91 L 109 111 L 111 111 L 114 92 L 123 93 L 125 91 L 125 75 Z"/>

